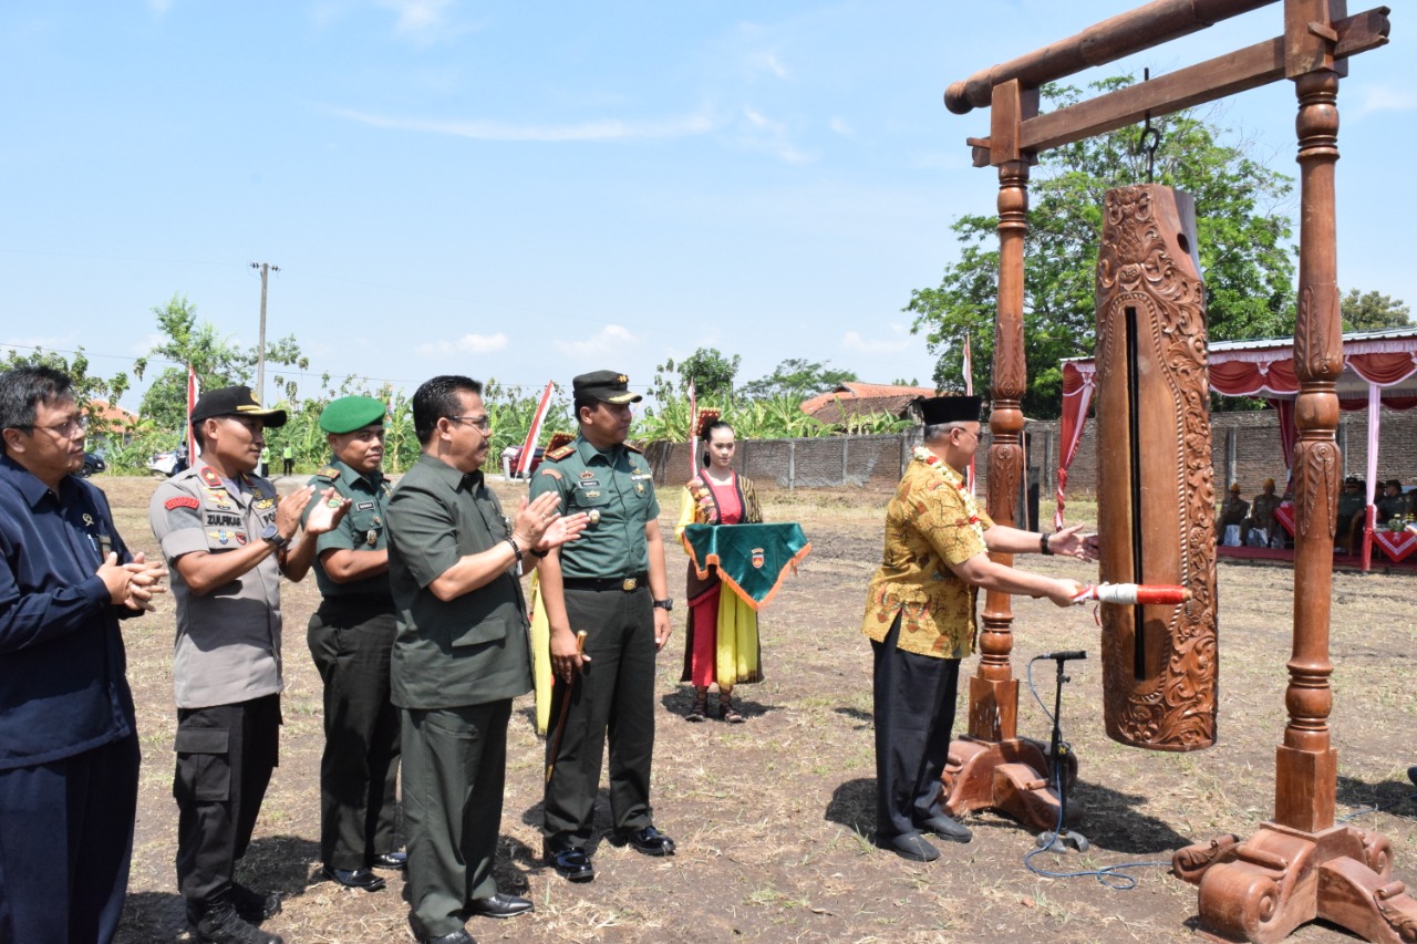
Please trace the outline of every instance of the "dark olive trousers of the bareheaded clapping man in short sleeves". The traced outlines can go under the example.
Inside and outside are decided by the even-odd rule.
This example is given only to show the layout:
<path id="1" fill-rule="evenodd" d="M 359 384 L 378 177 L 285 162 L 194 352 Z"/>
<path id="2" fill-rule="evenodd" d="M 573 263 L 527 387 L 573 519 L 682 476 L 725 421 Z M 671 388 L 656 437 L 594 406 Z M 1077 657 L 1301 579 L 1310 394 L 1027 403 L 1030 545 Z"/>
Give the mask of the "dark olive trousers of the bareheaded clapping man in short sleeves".
<path id="1" fill-rule="evenodd" d="M 497 893 L 512 699 L 461 709 L 400 709 L 408 923 L 418 937 L 463 927 L 473 899 Z"/>

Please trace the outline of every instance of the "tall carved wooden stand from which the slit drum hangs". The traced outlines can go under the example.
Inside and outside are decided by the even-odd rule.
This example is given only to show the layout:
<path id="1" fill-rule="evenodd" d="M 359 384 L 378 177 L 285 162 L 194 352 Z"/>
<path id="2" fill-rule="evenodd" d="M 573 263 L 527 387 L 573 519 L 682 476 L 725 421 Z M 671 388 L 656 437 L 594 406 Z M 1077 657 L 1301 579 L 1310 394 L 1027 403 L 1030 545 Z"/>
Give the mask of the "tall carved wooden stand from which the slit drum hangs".
<path id="1" fill-rule="evenodd" d="M 1284 34 L 1170 75 L 1039 115 L 1050 81 L 1161 45 L 1219 20 L 1282 1 Z M 949 111 L 990 109 L 990 135 L 969 139 L 976 167 L 999 173 L 999 299 L 989 429 L 993 520 L 1012 524 L 1023 473 L 1023 237 L 1029 167 L 1040 152 L 1236 92 L 1291 79 L 1298 99 L 1301 180 L 1298 323 L 1299 378 L 1294 446 L 1294 649 L 1287 663 L 1288 724 L 1275 758 L 1274 818 L 1248 839 L 1223 836 L 1179 850 L 1173 872 L 1200 886 L 1206 933 L 1278 941 L 1325 918 L 1370 941 L 1417 940 L 1417 901 L 1391 879 L 1389 841 L 1335 825 L 1338 753 L 1328 717 L 1333 524 L 1342 462 L 1335 439 L 1343 370 L 1335 237 L 1338 85 L 1348 58 L 1387 43 L 1387 7 L 1346 16 L 1346 0 L 1153 0 L 1083 33 L 955 82 Z M 1012 563 L 1009 554 L 995 554 Z M 951 744 L 944 784 L 954 812 L 1002 809 L 1053 828 L 1040 746 L 1017 737 L 1017 680 L 1010 670 L 1013 612 L 1002 592 L 985 597 L 979 669 L 969 680 L 969 733 Z"/>

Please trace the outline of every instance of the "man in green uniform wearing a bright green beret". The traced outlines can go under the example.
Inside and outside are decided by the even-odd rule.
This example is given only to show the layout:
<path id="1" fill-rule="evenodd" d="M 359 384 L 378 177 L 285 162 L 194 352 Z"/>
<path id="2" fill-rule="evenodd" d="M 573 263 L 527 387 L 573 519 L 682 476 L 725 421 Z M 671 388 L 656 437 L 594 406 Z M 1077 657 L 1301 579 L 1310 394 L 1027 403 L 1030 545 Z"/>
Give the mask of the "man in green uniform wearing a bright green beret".
<path id="1" fill-rule="evenodd" d="M 371 867 L 401 869 L 394 842 L 398 710 L 390 700 L 394 597 L 388 588 L 388 482 L 381 400 L 340 397 L 320 414 L 333 458 L 310 485 L 333 488 L 350 507 L 316 543 L 320 607 L 307 641 L 324 682 L 320 758 L 320 860 L 351 889 L 377 892 Z M 289 449 L 289 446 L 286 446 Z"/>

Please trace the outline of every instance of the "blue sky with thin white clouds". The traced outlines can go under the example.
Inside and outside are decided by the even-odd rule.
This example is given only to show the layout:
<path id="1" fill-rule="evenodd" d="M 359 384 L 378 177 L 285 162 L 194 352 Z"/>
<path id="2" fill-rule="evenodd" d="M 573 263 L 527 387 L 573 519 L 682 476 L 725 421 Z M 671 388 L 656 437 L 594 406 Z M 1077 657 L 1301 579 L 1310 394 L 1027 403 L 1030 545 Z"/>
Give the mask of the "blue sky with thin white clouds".
<path id="1" fill-rule="evenodd" d="M 309 393 L 601 367 L 643 388 L 700 346 L 740 381 L 803 357 L 928 383 L 900 309 L 998 187 L 964 143 L 986 112 L 945 86 L 1134 6 L 14 0 L 0 347 L 126 370 L 174 293 L 251 344 L 271 262 L 268 335 L 298 337 Z M 1074 81 L 1248 45 L 1281 10 Z M 1340 89 L 1339 279 L 1417 303 L 1401 14 Z M 1210 109 L 1297 174 L 1291 84 Z"/>

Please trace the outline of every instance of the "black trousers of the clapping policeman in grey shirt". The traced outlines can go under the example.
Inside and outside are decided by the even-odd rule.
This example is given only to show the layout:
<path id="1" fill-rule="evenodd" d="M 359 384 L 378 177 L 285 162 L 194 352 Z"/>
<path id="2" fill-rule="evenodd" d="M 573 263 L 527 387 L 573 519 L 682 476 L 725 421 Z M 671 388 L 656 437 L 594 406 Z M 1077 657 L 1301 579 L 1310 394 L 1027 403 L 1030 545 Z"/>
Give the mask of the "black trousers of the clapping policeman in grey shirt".
<path id="1" fill-rule="evenodd" d="M 281 696 L 177 709 L 177 890 L 193 920 L 225 900 L 279 758 Z"/>

